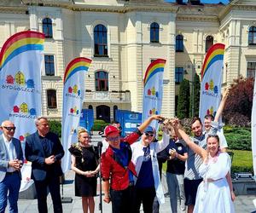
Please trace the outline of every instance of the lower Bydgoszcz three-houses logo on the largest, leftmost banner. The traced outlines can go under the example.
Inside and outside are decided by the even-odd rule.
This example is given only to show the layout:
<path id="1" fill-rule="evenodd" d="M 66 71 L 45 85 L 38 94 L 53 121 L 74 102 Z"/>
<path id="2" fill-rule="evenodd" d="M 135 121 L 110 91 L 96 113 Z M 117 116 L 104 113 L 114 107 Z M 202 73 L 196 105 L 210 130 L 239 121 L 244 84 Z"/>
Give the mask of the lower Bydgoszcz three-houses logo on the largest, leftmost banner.
<path id="1" fill-rule="evenodd" d="M 15 105 L 13 111 L 9 114 L 10 117 L 18 118 L 36 118 L 37 111 L 35 108 L 29 108 L 25 102 L 20 104 L 20 106 Z"/>

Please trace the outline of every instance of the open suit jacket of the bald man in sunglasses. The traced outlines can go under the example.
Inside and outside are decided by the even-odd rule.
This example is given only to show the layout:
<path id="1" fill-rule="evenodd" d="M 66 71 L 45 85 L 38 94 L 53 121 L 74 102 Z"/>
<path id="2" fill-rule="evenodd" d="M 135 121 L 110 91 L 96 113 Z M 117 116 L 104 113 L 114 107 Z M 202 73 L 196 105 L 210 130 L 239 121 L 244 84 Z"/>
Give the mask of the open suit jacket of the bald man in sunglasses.
<path id="1" fill-rule="evenodd" d="M 22 160 L 23 162 L 23 153 L 22 153 L 22 148 L 20 141 L 16 138 L 12 138 L 12 142 L 15 146 L 15 152 L 17 154 L 17 158 L 19 160 Z M 8 157 L 8 150 L 5 147 L 4 141 L 3 141 L 3 135 L 0 135 L 0 182 L 3 181 L 7 169 L 8 169 L 8 162 L 9 162 L 9 157 Z M 19 171 L 20 175 L 20 180 L 21 180 L 21 173 Z"/>

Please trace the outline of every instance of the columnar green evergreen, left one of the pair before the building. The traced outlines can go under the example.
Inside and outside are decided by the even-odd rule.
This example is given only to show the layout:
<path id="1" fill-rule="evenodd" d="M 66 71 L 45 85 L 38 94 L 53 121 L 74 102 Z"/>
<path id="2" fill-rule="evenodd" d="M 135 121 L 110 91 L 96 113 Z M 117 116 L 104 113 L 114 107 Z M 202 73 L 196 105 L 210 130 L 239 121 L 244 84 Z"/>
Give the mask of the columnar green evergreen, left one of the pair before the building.
<path id="1" fill-rule="evenodd" d="M 177 99 L 177 118 L 189 118 L 189 81 L 183 79 L 179 86 Z"/>

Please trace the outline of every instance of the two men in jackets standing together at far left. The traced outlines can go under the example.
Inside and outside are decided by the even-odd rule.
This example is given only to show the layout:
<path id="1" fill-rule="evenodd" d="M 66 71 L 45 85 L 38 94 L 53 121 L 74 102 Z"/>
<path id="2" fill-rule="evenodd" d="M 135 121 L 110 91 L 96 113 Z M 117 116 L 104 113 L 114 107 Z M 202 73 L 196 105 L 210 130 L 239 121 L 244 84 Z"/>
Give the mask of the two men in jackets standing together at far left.
<path id="1" fill-rule="evenodd" d="M 47 194 L 53 201 L 54 212 L 62 212 L 60 176 L 64 150 L 59 137 L 49 131 L 48 119 L 36 119 L 37 131 L 26 137 L 25 157 L 32 162 L 32 179 L 35 183 L 38 212 L 48 212 Z M 15 124 L 6 120 L 0 129 L 0 213 L 5 212 L 9 200 L 9 212 L 17 213 L 21 174 L 24 162 L 20 141 L 14 137 Z"/>

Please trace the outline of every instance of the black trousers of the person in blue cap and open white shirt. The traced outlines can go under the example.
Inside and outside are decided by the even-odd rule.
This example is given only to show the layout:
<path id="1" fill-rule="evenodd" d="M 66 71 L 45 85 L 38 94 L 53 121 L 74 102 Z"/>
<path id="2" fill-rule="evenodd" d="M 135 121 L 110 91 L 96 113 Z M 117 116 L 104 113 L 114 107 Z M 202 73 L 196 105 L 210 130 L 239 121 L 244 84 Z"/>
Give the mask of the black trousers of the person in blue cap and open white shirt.
<path id="1" fill-rule="evenodd" d="M 135 187 L 135 213 L 140 212 L 141 204 L 143 203 L 144 213 L 153 212 L 153 203 L 155 197 L 154 187 L 137 188 Z"/>

